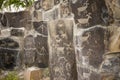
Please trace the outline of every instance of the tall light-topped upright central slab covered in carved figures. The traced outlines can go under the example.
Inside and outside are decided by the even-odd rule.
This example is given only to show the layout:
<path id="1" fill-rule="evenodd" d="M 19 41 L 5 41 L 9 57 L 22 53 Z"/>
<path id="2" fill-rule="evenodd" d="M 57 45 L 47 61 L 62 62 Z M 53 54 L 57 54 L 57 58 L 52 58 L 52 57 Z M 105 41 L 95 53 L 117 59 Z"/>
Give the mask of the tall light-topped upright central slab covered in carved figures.
<path id="1" fill-rule="evenodd" d="M 51 80 L 77 80 L 73 21 L 51 21 L 48 39 Z"/>

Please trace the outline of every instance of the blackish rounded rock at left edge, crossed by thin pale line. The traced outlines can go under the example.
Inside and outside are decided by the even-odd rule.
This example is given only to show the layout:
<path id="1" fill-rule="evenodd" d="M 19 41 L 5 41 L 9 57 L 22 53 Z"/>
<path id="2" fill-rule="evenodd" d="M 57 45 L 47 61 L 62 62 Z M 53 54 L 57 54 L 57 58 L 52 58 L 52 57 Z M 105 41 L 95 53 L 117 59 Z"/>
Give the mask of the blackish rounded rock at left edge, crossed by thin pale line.
<path id="1" fill-rule="evenodd" d="M 19 44 L 10 38 L 0 40 L 0 68 L 13 69 L 17 65 Z"/>

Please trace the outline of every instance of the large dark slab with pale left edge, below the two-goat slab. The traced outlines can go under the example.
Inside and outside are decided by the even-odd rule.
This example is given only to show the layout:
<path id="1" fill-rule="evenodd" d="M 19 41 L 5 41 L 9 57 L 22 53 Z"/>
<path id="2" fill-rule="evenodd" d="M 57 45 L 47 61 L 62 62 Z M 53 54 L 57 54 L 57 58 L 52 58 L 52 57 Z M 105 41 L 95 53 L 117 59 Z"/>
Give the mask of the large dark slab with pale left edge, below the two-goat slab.
<path id="1" fill-rule="evenodd" d="M 105 53 L 105 33 L 106 29 L 100 26 L 78 28 L 75 35 L 78 80 L 101 80 L 99 67 Z"/>

